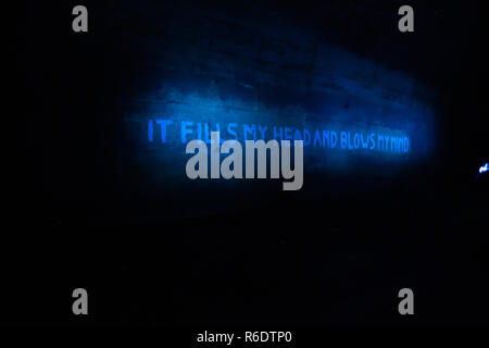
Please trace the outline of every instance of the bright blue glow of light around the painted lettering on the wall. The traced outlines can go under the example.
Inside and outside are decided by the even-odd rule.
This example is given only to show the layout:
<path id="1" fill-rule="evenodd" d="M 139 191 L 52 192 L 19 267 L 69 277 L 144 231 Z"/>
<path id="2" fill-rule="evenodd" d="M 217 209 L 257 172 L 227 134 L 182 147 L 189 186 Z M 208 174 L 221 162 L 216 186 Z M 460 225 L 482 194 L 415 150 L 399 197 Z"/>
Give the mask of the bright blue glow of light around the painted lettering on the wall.
<path id="1" fill-rule="evenodd" d="M 432 109 L 406 74 L 326 44 L 309 87 L 293 69 L 283 82 L 278 67 L 209 57 L 159 64 L 156 87 L 131 101 L 128 146 L 151 175 L 185 179 L 186 144 L 216 130 L 222 141 L 303 140 L 306 173 L 385 175 L 429 159 Z"/>

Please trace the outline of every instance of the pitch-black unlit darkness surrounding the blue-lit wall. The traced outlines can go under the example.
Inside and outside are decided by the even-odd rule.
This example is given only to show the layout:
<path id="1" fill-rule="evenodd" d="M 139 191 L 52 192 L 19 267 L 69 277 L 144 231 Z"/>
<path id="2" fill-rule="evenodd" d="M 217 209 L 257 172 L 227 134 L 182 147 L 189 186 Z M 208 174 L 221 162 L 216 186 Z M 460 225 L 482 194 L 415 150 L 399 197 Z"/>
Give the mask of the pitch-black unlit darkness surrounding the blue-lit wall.
<path id="1" fill-rule="evenodd" d="M 117 39 L 109 28 L 116 2 L 84 1 L 89 32 L 73 33 L 76 4 L 25 9 L 20 63 L 27 148 L 21 209 L 2 264 L 2 322 L 488 323 L 488 184 L 476 178 L 488 160 L 482 1 L 411 1 L 416 32 L 405 40 L 392 30 L 404 4 L 397 1 L 209 3 L 244 18 L 247 9 L 277 11 L 360 55 L 374 47 L 371 58 L 441 96 L 440 138 L 432 161 L 374 194 L 298 201 L 278 192 L 266 209 L 250 203 L 247 211 L 172 222 L 145 221 L 145 210 L 186 198 L 151 200 L 113 179 L 124 173 L 113 129 L 130 97 L 127 76 L 143 69 L 145 52 L 104 45 Z M 139 222 L 120 223 L 127 210 Z M 89 294 L 86 318 L 72 313 L 77 287 Z M 397 310 L 403 287 L 415 294 L 411 318 Z"/>

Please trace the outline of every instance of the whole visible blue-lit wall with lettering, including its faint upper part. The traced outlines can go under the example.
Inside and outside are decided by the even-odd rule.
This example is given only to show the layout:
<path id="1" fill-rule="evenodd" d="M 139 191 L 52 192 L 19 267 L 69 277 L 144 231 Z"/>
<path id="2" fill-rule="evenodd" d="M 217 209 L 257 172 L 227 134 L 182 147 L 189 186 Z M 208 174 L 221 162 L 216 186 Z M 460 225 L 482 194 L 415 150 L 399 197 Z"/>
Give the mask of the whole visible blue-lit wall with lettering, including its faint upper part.
<path id="1" fill-rule="evenodd" d="M 128 3 L 117 11 L 113 49 L 139 54 L 121 139 L 124 170 L 137 173 L 145 182 L 139 187 L 195 187 L 185 174 L 191 157 L 186 142 L 208 140 L 212 130 L 242 145 L 304 140 L 304 188 L 308 178 L 358 176 L 381 186 L 429 161 L 436 141 L 431 95 L 409 74 L 279 16 L 243 20 L 225 10 Z M 137 15 L 154 22 L 134 30 Z M 249 184 L 212 185 L 236 190 Z M 341 187 L 319 191 L 328 189 Z"/>

